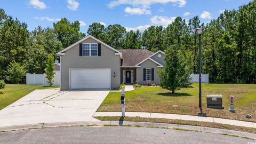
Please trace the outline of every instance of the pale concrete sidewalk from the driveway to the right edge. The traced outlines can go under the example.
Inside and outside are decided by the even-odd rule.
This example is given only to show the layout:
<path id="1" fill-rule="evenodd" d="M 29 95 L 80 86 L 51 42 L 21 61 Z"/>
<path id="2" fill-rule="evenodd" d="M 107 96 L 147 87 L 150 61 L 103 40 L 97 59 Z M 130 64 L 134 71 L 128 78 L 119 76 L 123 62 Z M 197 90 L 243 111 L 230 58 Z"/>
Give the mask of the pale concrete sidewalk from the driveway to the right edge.
<path id="1" fill-rule="evenodd" d="M 122 116 L 121 112 L 96 112 L 96 116 Z M 126 112 L 125 116 L 128 117 L 145 117 L 145 118 L 166 118 L 166 119 L 180 119 L 184 121 L 197 121 L 197 122 L 211 122 L 211 123 L 220 123 L 220 124 L 229 124 L 236 126 L 244 127 L 253 127 L 256 128 L 256 123 L 237 121 L 232 119 L 224 118 L 215 118 L 215 117 L 199 117 L 199 116 L 190 116 L 190 115 L 177 115 L 177 114 L 162 114 L 162 113 L 142 113 L 142 112 Z"/>

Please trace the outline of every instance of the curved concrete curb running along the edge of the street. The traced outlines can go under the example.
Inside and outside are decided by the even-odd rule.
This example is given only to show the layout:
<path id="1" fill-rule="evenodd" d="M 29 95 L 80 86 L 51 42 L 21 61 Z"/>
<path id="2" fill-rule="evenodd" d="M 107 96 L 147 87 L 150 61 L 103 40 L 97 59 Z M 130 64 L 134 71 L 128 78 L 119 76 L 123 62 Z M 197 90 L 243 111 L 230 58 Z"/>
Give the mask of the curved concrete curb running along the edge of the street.
<path id="1" fill-rule="evenodd" d="M 60 122 L 60 123 L 39 123 L 39 124 L 27 124 L 27 125 L 14 125 L 0 127 L 1 132 L 15 131 L 15 130 L 28 130 L 28 129 L 42 129 L 51 127 L 67 127 L 67 126 L 104 126 L 104 125 L 140 125 L 143 127 L 154 126 L 154 127 L 167 127 L 169 129 L 185 129 L 190 131 L 198 132 L 209 132 L 217 134 L 229 134 L 238 135 L 239 137 L 246 137 L 256 140 L 256 134 L 240 132 L 234 130 L 217 129 L 212 127 L 202 126 L 191 126 L 191 125 L 180 125 L 180 124 L 166 124 L 166 123 L 150 123 L 150 122 L 127 122 L 127 121 L 100 121 L 100 122 Z"/>

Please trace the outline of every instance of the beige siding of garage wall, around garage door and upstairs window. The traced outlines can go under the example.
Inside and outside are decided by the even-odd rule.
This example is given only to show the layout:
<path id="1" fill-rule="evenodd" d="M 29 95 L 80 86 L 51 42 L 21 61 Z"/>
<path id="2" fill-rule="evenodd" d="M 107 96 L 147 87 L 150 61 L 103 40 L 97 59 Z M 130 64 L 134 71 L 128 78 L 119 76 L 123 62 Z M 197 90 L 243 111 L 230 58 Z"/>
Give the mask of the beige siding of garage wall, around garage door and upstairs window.
<path id="1" fill-rule="evenodd" d="M 82 43 L 99 43 L 88 38 Z M 61 90 L 69 90 L 69 69 L 70 68 L 110 68 L 111 88 L 117 88 L 120 84 L 120 57 L 115 51 L 101 44 L 101 56 L 79 56 L 79 44 L 61 55 Z M 113 74 L 116 74 L 115 77 Z"/>

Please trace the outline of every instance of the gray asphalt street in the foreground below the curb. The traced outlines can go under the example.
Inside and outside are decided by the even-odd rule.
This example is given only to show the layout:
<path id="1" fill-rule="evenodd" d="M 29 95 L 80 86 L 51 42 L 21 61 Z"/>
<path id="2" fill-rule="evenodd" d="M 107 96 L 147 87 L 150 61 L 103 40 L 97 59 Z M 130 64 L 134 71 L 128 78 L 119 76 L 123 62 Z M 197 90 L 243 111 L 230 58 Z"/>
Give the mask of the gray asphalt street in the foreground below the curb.
<path id="1" fill-rule="evenodd" d="M 126 126 L 55 127 L 0 133 L 0 143 L 253 143 L 204 132 Z"/>

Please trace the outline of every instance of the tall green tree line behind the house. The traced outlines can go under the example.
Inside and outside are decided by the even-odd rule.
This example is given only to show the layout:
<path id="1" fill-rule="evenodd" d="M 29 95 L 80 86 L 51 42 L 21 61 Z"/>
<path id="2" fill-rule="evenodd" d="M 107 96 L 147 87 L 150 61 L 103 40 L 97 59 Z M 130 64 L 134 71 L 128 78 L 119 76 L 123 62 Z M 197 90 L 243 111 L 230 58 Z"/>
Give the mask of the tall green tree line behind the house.
<path id="1" fill-rule="evenodd" d="M 186 23 L 176 18 L 167 27 L 150 26 L 145 31 L 126 31 L 121 25 L 103 26 L 92 23 L 87 35 L 92 35 L 115 49 L 147 49 L 153 52 L 177 47 L 190 73 L 198 73 L 199 38 L 195 29 L 204 27 L 202 35 L 202 72 L 211 83 L 256 83 L 256 0 L 224 11 L 209 23 L 198 16 Z M 25 22 L 13 19 L 0 9 L 0 79 L 15 61 L 28 73 L 43 73 L 47 55 L 56 53 L 85 37 L 79 22 L 66 18 L 53 23 L 53 28 L 38 26 L 33 31 Z"/>

